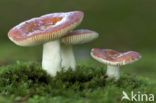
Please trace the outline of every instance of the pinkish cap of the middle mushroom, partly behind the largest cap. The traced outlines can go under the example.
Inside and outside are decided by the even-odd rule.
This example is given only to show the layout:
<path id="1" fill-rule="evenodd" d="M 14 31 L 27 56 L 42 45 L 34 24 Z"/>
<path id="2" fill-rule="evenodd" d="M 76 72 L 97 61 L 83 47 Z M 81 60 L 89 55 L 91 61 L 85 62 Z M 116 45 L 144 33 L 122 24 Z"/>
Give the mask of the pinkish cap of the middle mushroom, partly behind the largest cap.
<path id="1" fill-rule="evenodd" d="M 67 45 L 83 44 L 98 38 L 99 34 L 95 31 L 80 29 L 69 32 L 62 37 L 61 42 Z"/>

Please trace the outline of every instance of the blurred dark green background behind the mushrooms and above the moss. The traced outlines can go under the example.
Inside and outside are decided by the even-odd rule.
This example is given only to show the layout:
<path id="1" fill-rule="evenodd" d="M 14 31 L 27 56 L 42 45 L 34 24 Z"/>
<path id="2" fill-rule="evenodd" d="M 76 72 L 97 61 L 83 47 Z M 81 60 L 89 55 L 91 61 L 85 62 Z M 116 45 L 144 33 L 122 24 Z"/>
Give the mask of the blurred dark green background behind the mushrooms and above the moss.
<path id="1" fill-rule="evenodd" d="M 156 0 L 0 0 L 0 66 L 42 58 L 42 45 L 16 46 L 7 37 L 9 29 L 33 17 L 73 10 L 85 14 L 77 29 L 100 34 L 93 42 L 74 46 L 78 63 L 97 63 L 89 55 L 95 47 L 138 51 L 142 59 L 122 71 L 156 80 Z"/>

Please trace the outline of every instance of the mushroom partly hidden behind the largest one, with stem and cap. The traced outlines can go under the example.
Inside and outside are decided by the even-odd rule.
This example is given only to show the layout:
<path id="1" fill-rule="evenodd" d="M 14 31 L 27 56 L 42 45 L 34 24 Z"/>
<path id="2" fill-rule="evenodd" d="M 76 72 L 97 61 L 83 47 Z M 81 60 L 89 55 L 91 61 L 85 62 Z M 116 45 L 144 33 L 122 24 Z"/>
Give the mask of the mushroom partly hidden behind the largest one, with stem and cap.
<path id="1" fill-rule="evenodd" d="M 95 31 L 80 29 L 71 31 L 61 39 L 61 55 L 62 55 L 62 67 L 65 70 L 71 67 L 72 70 L 76 70 L 75 56 L 72 50 L 72 45 L 88 43 L 98 37 L 98 33 Z"/>

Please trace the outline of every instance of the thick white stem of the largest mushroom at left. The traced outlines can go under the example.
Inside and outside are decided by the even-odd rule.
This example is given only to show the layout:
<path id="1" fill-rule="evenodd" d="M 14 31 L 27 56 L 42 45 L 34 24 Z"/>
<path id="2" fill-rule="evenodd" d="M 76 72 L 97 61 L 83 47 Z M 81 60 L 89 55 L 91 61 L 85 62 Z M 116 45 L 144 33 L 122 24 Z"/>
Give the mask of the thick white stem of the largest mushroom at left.
<path id="1" fill-rule="evenodd" d="M 51 76 L 55 76 L 61 70 L 59 40 L 50 41 L 43 45 L 42 68 Z"/>

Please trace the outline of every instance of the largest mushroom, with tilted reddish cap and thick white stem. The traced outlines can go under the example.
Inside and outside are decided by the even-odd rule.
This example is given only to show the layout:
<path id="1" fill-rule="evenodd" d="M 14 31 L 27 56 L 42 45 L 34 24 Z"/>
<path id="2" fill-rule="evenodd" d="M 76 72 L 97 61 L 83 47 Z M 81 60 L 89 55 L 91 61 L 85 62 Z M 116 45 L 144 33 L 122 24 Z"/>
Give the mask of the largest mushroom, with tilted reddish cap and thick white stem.
<path id="1" fill-rule="evenodd" d="M 19 46 L 43 44 L 42 68 L 51 76 L 61 70 L 59 39 L 78 26 L 83 12 L 60 12 L 32 18 L 13 27 L 9 39 Z"/>

